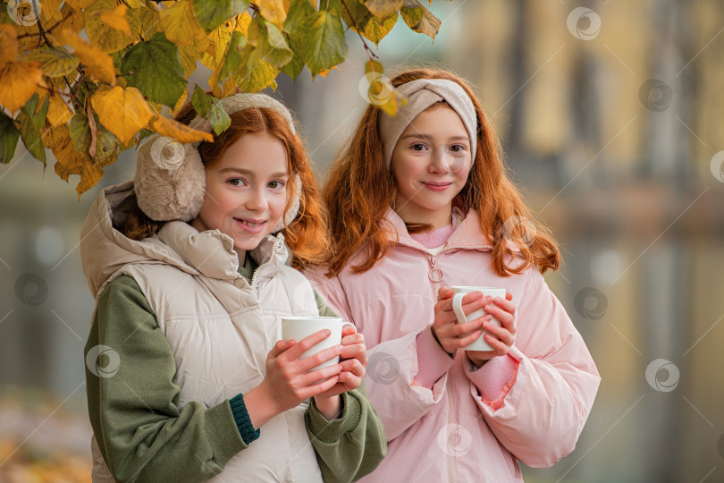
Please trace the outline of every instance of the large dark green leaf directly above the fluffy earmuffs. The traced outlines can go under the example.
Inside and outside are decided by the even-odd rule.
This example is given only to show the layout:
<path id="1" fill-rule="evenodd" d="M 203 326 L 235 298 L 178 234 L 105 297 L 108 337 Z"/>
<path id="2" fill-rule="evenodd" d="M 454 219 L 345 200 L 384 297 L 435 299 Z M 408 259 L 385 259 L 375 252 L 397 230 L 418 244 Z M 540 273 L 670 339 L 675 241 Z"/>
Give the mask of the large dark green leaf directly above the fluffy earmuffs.
<path id="1" fill-rule="evenodd" d="M 135 87 L 151 102 L 173 107 L 186 90 L 179 49 L 163 32 L 131 47 L 121 60 L 128 87 Z"/>

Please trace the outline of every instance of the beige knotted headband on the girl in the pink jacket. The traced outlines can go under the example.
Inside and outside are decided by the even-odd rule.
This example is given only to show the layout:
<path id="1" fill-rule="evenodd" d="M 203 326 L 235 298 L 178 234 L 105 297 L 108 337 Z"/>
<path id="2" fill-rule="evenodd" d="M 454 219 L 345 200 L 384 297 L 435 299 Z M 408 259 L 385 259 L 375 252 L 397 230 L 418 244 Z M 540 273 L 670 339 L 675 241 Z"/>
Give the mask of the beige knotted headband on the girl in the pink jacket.
<path id="1" fill-rule="evenodd" d="M 396 89 L 407 97 L 408 102 L 405 106 L 400 106 L 395 117 L 381 114 L 380 135 L 383 139 L 384 159 L 388 166 L 391 164 L 392 151 L 409 123 L 412 123 L 417 114 L 442 100 L 447 101 L 465 124 L 467 135 L 470 137 L 470 152 L 473 158 L 476 157 L 476 108 L 467 96 L 467 92 L 457 82 L 446 79 L 418 79 L 402 84 Z"/>

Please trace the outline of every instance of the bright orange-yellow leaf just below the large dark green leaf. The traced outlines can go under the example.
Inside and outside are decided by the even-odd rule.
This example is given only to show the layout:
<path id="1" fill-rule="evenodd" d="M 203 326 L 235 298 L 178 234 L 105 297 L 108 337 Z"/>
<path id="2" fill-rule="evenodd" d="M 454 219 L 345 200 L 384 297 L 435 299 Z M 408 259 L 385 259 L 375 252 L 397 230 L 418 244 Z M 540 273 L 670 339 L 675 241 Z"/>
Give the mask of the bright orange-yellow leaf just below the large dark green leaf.
<path id="1" fill-rule="evenodd" d="M 100 123 L 123 144 L 128 144 L 130 138 L 154 116 L 140 90 L 132 87 L 98 89 L 90 97 L 90 104 L 98 114 Z"/>

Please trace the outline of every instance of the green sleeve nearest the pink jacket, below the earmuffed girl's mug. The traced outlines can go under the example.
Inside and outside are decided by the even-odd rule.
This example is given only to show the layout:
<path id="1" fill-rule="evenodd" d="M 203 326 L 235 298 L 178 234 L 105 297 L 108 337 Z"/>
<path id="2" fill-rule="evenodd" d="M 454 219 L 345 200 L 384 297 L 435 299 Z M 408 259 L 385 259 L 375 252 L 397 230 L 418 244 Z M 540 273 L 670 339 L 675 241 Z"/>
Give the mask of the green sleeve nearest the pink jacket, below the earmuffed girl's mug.
<path id="1" fill-rule="evenodd" d="M 316 409 L 314 399 L 305 414 L 325 483 L 357 481 L 375 470 L 387 454 L 383 423 L 367 399 L 364 379 L 357 389 L 342 394 L 342 404 L 341 417 L 332 421 Z"/>

